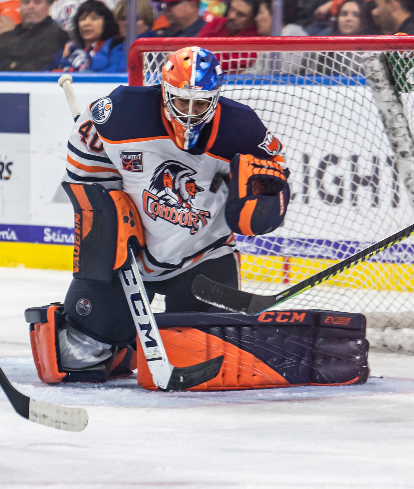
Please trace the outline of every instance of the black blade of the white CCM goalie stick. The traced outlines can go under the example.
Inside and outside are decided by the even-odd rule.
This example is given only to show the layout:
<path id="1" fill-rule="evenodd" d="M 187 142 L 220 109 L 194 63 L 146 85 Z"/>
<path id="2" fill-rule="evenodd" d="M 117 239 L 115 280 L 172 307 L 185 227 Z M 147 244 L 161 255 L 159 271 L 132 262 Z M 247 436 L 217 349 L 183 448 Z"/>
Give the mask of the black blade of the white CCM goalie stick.
<path id="1" fill-rule="evenodd" d="M 174 367 L 167 388 L 160 390 L 178 391 L 190 389 L 190 387 L 207 382 L 207 380 L 217 376 L 223 360 L 224 356 L 220 355 L 190 367 Z"/>

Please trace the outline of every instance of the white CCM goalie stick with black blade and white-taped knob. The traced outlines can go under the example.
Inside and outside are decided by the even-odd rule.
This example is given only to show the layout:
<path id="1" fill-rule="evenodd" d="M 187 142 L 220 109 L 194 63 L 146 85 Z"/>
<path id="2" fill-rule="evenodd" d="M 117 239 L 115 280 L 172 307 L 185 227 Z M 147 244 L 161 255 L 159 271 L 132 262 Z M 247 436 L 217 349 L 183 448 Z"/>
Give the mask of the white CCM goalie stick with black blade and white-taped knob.
<path id="1" fill-rule="evenodd" d="M 65 91 L 70 112 L 76 121 L 81 112 L 71 86 L 72 77 L 62 75 L 58 83 Z M 189 389 L 216 377 L 223 363 L 222 355 L 189 367 L 174 367 L 169 362 L 131 245 L 128 245 L 128 251 L 131 266 L 118 274 L 156 387 L 162 391 Z"/>

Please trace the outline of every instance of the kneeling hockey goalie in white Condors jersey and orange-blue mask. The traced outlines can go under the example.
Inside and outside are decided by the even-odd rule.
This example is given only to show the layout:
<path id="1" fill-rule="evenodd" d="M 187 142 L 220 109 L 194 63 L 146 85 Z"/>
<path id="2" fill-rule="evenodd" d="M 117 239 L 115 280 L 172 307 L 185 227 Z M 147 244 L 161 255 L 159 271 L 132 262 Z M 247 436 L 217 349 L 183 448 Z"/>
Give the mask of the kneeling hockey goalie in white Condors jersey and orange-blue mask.
<path id="1" fill-rule="evenodd" d="M 64 188 L 75 215 L 73 280 L 64 304 L 26 311 L 46 383 L 130 375 L 154 389 L 118 271 L 138 260 L 169 360 L 224 356 L 198 390 L 365 382 L 365 318 L 269 311 L 246 318 L 193 296 L 203 274 L 240 287 L 234 234 L 274 231 L 287 211 L 281 142 L 256 113 L 220 97 L 223 73 L 200 47 L 173 53 L 160 85 L 118 87 L 92 102 L 68 141 Z"/>

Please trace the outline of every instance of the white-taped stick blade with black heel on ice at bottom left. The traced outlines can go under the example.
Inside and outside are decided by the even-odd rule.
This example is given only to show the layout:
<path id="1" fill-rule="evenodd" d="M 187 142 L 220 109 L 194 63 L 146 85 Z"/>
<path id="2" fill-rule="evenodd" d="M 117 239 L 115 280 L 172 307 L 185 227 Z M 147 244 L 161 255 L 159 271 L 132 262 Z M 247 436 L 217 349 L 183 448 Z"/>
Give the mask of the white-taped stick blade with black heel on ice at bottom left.
<path id="1" fill-rule="evenodd" d="M 65 431 L 82 431 L 86 428 L 87 411 L 39 401 L 25 396 L 10 383 L 0 368 L 0 385 L 16 413 L 26 420 Z"/>

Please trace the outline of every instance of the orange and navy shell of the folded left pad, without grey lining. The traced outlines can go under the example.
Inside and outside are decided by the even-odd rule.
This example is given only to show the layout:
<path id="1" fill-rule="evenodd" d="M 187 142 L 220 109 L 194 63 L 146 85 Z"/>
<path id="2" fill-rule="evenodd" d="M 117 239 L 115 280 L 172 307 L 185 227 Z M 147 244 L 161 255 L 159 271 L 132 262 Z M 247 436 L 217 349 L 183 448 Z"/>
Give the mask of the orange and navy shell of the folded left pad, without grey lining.
<path id="1" fill-rule="evenodd" d="M 47 384 L 58 382 L 105 382 L 126 377 L 136 369 L 136 350 L 131 345 L 113 348 L 112 356 L 93 367 L 65 370 L 61 365 L 58 328 L 65 323 L 62 304 L 26 309 L 30 344 L 38 376 Z"/>

